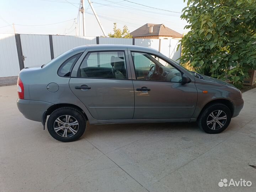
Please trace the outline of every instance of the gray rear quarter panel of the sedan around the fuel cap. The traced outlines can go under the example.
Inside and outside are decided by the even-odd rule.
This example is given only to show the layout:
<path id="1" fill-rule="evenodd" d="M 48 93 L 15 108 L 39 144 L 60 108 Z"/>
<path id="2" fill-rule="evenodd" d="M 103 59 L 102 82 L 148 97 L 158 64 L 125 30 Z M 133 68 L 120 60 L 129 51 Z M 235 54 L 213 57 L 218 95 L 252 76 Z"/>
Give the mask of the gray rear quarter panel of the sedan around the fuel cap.
<path id="1" fill-rule="evenodd" d="M 24 86 L 25 100 L 44 101 L 53 104 L 69 103 L 79 106 L 84 110 L 87 117 L 90 117 L 89 111 L 84 104 L 73 94 L 69 87 L 69 77 L 60 77 L 57 74 L 59 66 L 69 57 L 84 52 L 81 49 L 70 51 L 63 57 L 54 60 L 53 63 L 44 66 L 43 68 L 24 69 L 20 72 L 19 77 Z M 81 57 L 84 54 L 81 55 Z M 81 57 L 77 62 L 81 62 Z M 49 92 L 47 85 L 56 83 L 59 86 L 58 91 Z"/>

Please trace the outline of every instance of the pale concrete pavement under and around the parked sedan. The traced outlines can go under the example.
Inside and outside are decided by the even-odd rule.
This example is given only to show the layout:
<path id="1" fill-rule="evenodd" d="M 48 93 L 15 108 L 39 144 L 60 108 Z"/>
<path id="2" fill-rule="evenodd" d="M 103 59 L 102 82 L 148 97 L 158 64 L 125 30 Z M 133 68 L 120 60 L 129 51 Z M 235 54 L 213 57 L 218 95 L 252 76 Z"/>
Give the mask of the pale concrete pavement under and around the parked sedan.
<path id="1" fill-rule="evenodd" d="M 256 89 L 220 134 L 196 123 L 90 125 L 61 143 L 22 116 L 16 86 L 0 87 L 0 192 L 256 191 Z M 219 187 L 240 178 L 251 187 Z"/>

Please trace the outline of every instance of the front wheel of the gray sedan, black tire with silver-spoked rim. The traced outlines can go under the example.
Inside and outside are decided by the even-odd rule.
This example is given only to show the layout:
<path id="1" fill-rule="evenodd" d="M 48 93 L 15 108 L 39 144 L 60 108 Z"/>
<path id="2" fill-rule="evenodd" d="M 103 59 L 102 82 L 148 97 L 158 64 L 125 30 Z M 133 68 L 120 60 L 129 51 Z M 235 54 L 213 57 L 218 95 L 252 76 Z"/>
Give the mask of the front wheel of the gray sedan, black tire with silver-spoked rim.
<path id="1" fill-rule="evenodd" d="M 219 116 L 218 113 L 220 113 Z M 213 103 L 207 106 L 203 109 L 203 111 L 201 112 L 200 116 L 197 119 L 199 128 L 203 129 L 206 133 L 210 134 L 223 132 L 229 126 L 230 121 L 231 111 L 223 103 Z"/>

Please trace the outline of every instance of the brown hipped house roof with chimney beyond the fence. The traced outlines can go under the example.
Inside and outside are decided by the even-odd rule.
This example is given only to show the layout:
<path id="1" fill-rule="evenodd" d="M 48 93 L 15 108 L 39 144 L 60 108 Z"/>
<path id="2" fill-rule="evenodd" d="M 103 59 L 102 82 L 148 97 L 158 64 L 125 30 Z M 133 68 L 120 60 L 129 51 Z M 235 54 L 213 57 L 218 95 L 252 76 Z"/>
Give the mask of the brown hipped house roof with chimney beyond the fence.
<path id="1" fill-rule="evenodd" d="M 153 26 L 153 32 L 150 33 L 150 26 Z M 169 36 L 169 37 L 182 37 L 182 34 L 166 27 L 164 24 L 146 23 L 130 33 L 133 37 L 145 36 Z"/>

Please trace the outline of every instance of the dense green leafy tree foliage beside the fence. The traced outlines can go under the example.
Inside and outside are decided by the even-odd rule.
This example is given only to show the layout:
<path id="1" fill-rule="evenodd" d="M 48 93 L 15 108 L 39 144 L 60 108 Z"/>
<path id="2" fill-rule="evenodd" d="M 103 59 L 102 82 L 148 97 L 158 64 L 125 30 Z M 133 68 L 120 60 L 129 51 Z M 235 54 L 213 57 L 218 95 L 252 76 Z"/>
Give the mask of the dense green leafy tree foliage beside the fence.
<path id="1" fill-rule="evenodd" d="M 185 0 L 184 0 L 185 2 Z M 256 69 L 256 0 L 188 0 L 181 63 L 236 86 Z"/>

